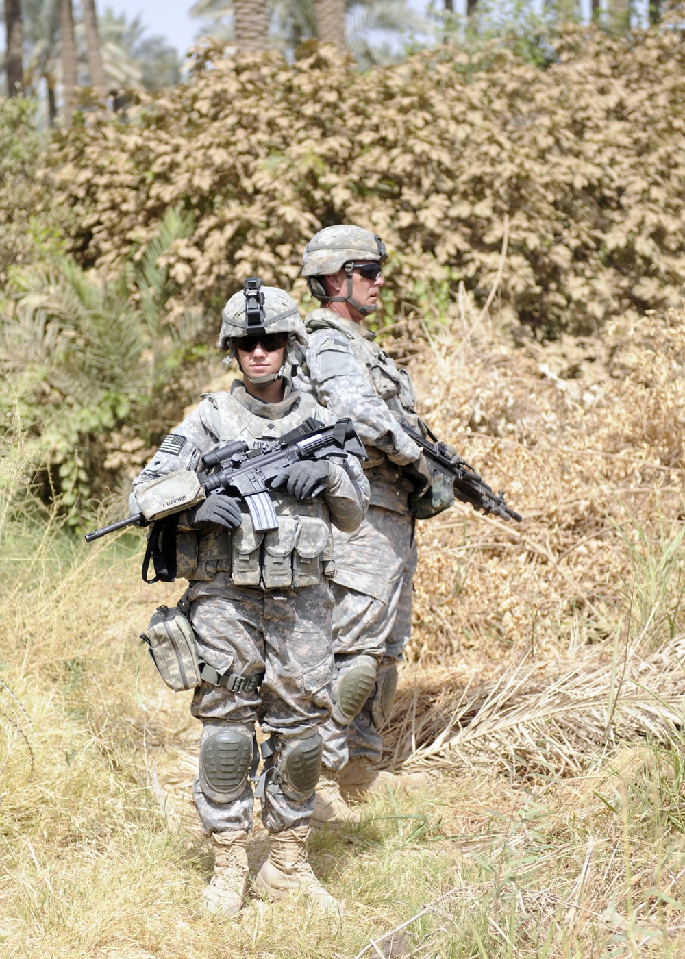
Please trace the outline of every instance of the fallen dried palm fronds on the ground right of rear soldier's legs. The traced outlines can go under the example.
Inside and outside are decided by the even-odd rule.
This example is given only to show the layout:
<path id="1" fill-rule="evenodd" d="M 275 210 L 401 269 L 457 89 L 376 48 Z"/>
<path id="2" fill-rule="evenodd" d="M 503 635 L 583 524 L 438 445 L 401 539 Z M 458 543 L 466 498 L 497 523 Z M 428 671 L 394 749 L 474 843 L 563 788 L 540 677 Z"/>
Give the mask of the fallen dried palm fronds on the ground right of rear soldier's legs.
<path id="1" fill-rule="evenodd" d="M 392 764 L 473 773 L 579 775 L 587 756 L 647 738 L 680 743 L 685 637 L 642 659 L 594 647 L 571 661 L 500 665 L 486 682 L 463 668 L 427 670 L 398 697 Z M 477 685 L 476 685 L 477 684 Z M 389 752 L 390 752 L 389 748 Z"/>

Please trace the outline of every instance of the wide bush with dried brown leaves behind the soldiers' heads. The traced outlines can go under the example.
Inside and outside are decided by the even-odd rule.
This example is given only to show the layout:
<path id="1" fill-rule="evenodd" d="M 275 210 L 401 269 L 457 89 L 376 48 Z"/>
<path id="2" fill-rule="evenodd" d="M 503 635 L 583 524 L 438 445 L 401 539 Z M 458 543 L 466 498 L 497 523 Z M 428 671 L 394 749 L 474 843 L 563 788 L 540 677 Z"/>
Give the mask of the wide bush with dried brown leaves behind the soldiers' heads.
<path id="1" fill-rule="evenodd" d="M 484 301 L 507 233 L 501 303 L 543 331 L 678 302 L 680 35 L 569 27 L 546 71 L 481 56 L 437 48 L 359 75 L 325 48 L 289 66 L 208 46 L 188 83 L 60 135 L 50 164 L 78 213 L 72 249 L 115 269 L 177 204 L 196 229 L 171 272 L 207 306 L 249 272 L 292 285 L 308 237 L 339 221 L 390 246 L 395 309 L 460 280 Z"/>

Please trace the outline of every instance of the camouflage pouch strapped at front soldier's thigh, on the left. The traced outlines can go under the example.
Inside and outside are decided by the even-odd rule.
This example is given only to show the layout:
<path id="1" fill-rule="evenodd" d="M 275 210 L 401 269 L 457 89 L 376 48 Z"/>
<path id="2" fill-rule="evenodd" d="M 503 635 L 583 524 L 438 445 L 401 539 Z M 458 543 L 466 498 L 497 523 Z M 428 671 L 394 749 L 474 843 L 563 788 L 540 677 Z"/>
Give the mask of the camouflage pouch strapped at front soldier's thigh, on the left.
<path id="1" fill-rule="evenodd" d="M 198 647 L 188 611 L 185 596 L 177 606 L 157 606 L 147 632 L 140 634 L 157 672 L 175 692 L 200 686 Z"/>

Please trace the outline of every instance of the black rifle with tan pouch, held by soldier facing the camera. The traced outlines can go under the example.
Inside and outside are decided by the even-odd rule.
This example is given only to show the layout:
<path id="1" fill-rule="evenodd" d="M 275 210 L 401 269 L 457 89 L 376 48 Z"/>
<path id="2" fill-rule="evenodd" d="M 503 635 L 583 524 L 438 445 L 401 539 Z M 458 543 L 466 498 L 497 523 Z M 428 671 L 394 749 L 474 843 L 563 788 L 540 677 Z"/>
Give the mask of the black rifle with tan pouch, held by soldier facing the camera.
<path id="1" fill-rule="evenodd" d="M 140 512 L 125 520 L 111 523 L 85 534 L 85 541 L 100 539 L 124 526 L 148 526 L 201 503 L 215 490 L 241 497 L 246 503 L 256 532 L 278 528 L 269 486 L 272 479 L 300 459 L 328 459 L 346 454 L 366 459 L 366 451 L 355 432 L 351 419 L 339 419 L 333 426 L 324 426 L 308 417 L 301 426 L 280 439 L 262 443 L 261 449 L 250 450 L 237 440 L 202 456 L 201 465 L 213 473 L 175 470 L 166 476 L 143 483 L 135 491 Z M 319 496 L 323 485 L 312 494 Z"/>

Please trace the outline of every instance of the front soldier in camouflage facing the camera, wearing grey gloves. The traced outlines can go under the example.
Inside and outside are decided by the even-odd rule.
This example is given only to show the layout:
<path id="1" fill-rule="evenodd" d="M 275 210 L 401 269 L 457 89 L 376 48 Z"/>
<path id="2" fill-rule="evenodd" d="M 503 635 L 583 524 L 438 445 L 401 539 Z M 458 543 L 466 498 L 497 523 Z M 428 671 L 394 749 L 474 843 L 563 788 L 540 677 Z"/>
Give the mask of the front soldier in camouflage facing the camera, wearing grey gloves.
<path id="1" fill-rule="evenodd" d="M 334 423 L 337 417 L 292 386 L 305 342 L 287 293 L 263 287 L 250 300 L 246 284 L 232 296 L 219 347 L 226 362 L 237 358 L 244 380 L 203 397 L 134 480 L 132 500 L 138 484 L 197 470 L 201 456 L 233 440 L 257 448 L 309 416 Z M 321 485 L 322 495 L 312 498 Z M 216 493 L 178 523 L 177 574 L 190 583 L 190 619 L 206 665 L 191 707 L 202 723 L 194 798 L 215 857 L 201 904 L 224 915 L 240 910 L 247 888 L 257 720 L 269 737 L 260 784 L 270 853 L 255 887 L 271 898 L 300 892 L 325 910 L 339 908 L 312 872 L 306 840 L 319 730 L 331 713 L 331 524 L 347 532 L 359 526 L 368 484 L 359 460 L 347 456 L 299 461 L 274 487 L 277 530 L 255 532 L 245 504 Z"/>

